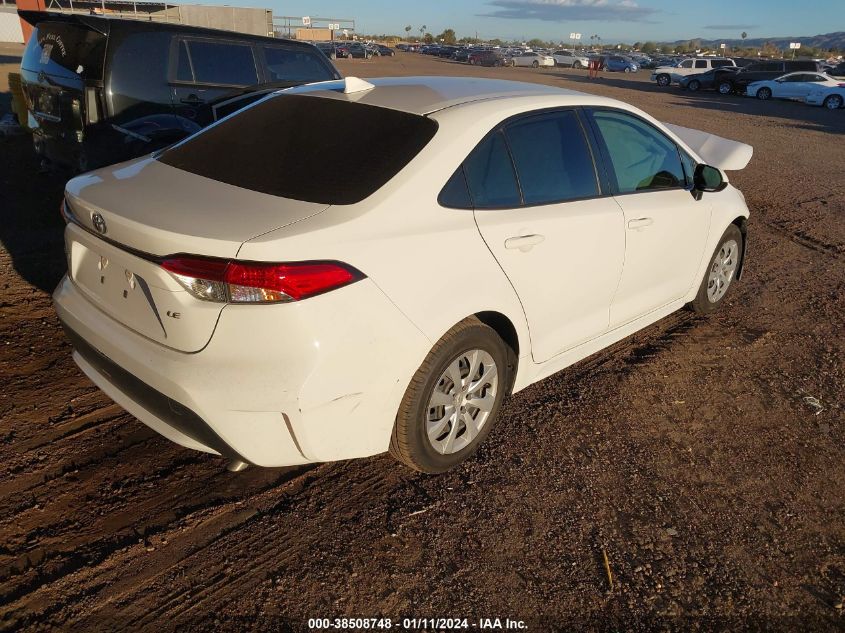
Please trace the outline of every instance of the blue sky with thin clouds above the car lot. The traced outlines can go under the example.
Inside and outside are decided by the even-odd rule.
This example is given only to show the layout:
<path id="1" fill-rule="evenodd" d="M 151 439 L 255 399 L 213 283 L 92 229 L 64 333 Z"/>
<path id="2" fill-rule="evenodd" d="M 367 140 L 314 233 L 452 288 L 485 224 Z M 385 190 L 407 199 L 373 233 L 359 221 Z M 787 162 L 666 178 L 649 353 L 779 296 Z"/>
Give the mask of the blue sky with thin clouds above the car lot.
<path id="1" fill-rule="evenodd" d="M 843 0 L 198 0 L 263 7 L 275 15 L 353 18 L 357 31 L 397 34 L 411 25 L 458 37 L 602 42 L 810 36 L 845 30 Z M 315 24 L 315 26 L 323 26 Z"/>

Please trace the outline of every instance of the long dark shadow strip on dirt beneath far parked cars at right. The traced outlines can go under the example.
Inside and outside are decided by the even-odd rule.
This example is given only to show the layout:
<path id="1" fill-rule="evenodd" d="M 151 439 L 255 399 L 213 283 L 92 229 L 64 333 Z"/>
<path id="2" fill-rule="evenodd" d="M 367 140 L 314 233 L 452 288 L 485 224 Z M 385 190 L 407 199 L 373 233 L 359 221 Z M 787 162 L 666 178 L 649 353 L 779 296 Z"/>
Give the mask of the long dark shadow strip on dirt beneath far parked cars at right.
<path id="1" fill-rule="evenodd" d="M 568 83 L 578 85 L 603 85 L 641 92 L 664 93 L 667 102 L 671 105 L 772 117 L 789 121 L 793 127 L 800 129 L 845 134 L 845 110 L 827 110 L 797 101 L 759 101 L 739 95 L 723 96 L 715 91 L 688 92 L 677 86 L 661 88 L 650 81 L 615 77 L 607 73 L 601 73 L 598 79 L 576 73 L 554 72 L 554 74 Z"/>

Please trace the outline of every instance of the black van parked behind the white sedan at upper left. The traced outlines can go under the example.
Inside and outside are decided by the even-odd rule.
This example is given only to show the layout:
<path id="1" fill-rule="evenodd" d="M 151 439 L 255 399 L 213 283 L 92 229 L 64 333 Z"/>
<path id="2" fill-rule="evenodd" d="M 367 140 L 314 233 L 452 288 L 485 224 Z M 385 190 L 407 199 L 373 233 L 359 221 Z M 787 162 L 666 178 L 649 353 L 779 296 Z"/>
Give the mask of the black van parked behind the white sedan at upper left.
<path id="1" fill-rule="evenodd" d="M 312 44 L 180 24 L 19 11 L 36 151 L 77 171 L 146 154 L 278 88 L 339 79 Z"/>

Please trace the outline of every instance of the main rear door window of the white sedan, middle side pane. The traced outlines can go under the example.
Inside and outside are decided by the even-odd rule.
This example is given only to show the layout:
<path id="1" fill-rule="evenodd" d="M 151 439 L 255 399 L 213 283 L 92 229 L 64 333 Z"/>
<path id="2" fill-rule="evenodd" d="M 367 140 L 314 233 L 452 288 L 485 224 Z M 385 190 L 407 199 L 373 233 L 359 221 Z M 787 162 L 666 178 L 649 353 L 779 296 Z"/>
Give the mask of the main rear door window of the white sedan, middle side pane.
<path id="1" fill-rule="evenodd" d="M 506 136 L 525 204 L 598 195 L 593 158 L 574 112 L 518 121 Z"/>

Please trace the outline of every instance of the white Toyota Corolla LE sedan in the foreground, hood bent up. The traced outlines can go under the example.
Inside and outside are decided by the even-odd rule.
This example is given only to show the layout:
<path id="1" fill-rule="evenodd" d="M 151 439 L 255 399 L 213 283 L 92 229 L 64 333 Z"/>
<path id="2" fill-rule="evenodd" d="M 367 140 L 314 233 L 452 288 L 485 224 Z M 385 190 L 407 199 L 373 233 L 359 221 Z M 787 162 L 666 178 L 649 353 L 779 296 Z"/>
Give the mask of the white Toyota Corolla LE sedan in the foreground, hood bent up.
<path id="1" fill-rule="evenodd" d="M 442 472 L 509 394 L 735 285 L 723 170 L 749 146 L 549 86 L 371 81 L 68 182 L 73 358 L 172 441 L 232 470 L 389 450 Z"/>

